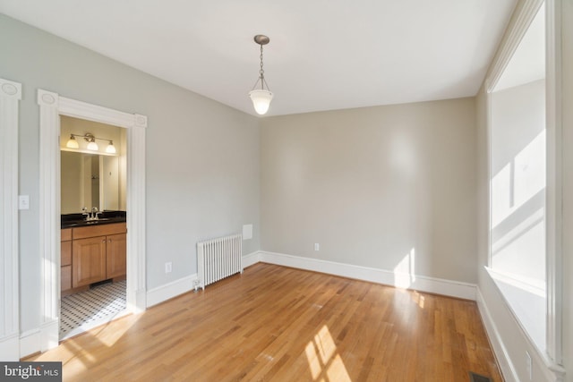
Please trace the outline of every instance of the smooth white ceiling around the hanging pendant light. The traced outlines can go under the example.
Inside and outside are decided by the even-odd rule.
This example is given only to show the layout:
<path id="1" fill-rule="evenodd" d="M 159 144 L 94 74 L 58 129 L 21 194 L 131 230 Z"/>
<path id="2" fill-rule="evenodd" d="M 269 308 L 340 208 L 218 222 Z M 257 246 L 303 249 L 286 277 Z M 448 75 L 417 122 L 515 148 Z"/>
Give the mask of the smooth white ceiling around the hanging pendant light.
<path id="1" fill-rule="evenodd" d="M 0 0 L 0 12 L 254 115 L 475 96 L 516 0 Z"/>

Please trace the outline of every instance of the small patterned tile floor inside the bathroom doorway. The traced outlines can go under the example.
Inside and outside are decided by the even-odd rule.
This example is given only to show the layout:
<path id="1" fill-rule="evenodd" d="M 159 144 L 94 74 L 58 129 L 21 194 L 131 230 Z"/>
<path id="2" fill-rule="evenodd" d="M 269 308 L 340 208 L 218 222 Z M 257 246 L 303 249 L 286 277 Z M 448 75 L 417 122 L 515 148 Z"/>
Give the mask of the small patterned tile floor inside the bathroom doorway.
<path id="1" fill-rule="evenodd" d="M 64 296 L 60 308 L 60 340 L 123 316 L 126 306 L 125 281 Z"/>

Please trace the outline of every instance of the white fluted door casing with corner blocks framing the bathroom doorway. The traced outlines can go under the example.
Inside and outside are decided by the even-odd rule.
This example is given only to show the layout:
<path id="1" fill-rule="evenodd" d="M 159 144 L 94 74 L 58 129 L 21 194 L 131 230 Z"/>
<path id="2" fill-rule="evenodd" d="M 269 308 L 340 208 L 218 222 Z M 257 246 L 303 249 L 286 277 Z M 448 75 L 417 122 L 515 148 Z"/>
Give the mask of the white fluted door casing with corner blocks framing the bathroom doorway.
<path id="1" fill-rule="evenodd" d="M 91 105 L 38 89 L 39 220 L 42 256 L 42 320 L 39 349 L 58 344 L 60 301 L 60 115 L 128 129 L 127 150 L 127 305 L 132 312 L 145 301 L 145 128 L 147 117 Z"/>

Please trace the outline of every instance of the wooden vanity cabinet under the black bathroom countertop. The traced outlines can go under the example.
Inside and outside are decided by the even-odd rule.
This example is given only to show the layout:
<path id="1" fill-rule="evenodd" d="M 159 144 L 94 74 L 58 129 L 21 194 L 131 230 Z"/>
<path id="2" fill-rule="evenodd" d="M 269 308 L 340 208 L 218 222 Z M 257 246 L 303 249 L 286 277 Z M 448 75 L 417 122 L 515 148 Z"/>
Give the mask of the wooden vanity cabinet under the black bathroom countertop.
<path id="1" fill-rule="evenodd" d="M 70 242 L 72 288 L 81 288 L 98 281 L 125 276 L 127 255 L 125 223 L 89 225 L 70 231 L 72 231 Z M 64 266 L 64 255 L 62 261 Z M 64 271 L 62 283 L 64 284 Z"/>

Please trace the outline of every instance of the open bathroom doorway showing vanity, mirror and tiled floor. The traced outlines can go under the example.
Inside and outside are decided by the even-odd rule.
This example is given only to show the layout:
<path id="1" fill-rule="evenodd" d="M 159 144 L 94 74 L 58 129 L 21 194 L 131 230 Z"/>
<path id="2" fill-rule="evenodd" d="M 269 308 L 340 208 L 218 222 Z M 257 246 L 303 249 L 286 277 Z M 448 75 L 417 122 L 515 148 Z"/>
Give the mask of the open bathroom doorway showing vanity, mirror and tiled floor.
<path id="1" fill-rule="evenodd" d="M 126 138 L 60 116 L 60 341 L 127 314 Z"/>

